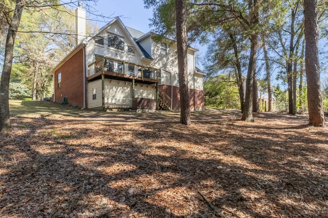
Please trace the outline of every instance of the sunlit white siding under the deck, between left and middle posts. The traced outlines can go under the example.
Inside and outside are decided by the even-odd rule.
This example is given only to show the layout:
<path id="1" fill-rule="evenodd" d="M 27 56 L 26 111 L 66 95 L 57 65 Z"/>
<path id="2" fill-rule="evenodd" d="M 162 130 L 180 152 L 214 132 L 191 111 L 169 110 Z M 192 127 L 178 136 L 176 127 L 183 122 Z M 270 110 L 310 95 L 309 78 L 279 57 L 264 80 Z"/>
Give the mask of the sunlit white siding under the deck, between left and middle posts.
<path id="1" fill-rule="evenodd" d="M 132 83 L 106 79 L 105 104 L 132 107 Z"/>

